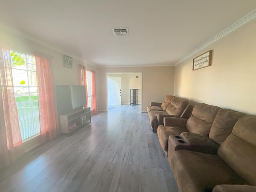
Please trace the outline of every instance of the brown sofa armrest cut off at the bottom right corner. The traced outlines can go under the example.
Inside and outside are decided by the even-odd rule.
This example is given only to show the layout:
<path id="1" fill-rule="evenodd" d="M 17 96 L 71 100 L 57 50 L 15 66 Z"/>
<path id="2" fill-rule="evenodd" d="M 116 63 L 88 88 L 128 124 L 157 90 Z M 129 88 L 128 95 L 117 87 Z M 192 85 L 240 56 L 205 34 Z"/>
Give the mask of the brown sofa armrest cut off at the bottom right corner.
<path id="1" fill-rule="evenodd" d="M 217 185 L 212 192 L 255 192 L 256 186 L 249 185 Z"/>

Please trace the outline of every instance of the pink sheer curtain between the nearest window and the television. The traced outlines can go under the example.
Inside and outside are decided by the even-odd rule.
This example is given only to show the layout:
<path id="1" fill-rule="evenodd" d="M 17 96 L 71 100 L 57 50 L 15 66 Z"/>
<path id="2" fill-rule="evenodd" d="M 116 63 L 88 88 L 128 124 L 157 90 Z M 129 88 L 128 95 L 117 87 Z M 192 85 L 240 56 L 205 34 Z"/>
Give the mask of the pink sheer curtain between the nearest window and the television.
<path id="1" fill-rule="evenodd" d="M 41 142 L 44 143 L 59 134 L 50 56 L 36 53 L 36 76 L 38 81 L 40 138 Z"/>

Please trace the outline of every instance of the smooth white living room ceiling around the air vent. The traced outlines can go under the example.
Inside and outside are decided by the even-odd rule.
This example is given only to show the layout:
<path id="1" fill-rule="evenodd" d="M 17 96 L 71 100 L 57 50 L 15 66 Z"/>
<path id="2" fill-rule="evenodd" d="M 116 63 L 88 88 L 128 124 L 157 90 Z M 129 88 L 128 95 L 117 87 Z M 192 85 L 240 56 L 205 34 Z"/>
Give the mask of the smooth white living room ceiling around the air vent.
<path id="1" fill-rule="evenodd" d="M 2 0 L 0 24 L 98 67 L 163 66 L 255 8 L 256 0 Z"/>

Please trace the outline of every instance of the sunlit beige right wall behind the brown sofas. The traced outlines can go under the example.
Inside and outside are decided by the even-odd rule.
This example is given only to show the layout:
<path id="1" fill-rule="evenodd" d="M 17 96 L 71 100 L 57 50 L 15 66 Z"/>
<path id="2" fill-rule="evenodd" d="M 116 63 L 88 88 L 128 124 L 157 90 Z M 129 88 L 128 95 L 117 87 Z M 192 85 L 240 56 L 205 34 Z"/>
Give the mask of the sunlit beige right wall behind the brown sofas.
<path id="1" fill-rule="evenodd" d="M 193 58 L 212 51 L 212 66 L 192 70 Z M 256 19 L 175 66 L 174 95 L 256 114 Z"/>

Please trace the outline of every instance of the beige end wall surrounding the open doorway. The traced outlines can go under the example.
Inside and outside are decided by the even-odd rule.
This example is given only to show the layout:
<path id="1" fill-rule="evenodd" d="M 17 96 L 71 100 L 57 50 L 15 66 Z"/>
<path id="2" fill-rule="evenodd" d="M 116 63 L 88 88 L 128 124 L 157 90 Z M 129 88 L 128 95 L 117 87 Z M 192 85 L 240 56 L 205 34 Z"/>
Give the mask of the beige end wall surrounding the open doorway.
<path id="1" fill-rule="evenodd" d="M 98 110 L 107 107 L 106 74 L 118 72 L 142 72 L 142 112 L 146 112 L 151 101 L 163 102 L 167 94 L 173 94 L 173 66 L 98 68 Z"/>

